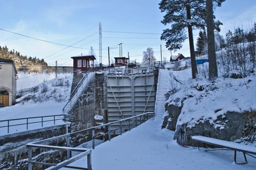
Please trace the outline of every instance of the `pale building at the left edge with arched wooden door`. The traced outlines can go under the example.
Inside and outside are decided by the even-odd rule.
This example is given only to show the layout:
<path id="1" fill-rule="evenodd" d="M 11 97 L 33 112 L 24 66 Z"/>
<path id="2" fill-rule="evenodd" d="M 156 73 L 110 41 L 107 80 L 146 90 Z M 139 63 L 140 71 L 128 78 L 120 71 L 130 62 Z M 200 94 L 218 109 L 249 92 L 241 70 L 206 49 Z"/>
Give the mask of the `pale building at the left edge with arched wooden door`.
<path id="1" fill-rule="evenodd" d="M 15 104 L 17 74 L 12 60 L 0 58 L 0 107 Z"/>

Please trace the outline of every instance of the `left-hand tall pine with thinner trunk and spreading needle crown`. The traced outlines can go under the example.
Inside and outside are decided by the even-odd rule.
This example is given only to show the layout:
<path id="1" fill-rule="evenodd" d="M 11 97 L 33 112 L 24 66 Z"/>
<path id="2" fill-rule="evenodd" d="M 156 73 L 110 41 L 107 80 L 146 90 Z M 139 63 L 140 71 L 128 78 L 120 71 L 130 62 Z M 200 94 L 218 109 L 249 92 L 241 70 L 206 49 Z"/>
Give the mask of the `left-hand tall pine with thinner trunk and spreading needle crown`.
<path id="1" fill-rule="evenodd" d="M 225 0 L 214 0 L 216 6 L 220 6 Z M 206 25 L 206 1 L 205 0 L 161 0 L 159 3 L 161 12 L 166 12 L 161 21 L 164 25 L 172 24 L 171 29 L 166 29 L 161 35 L 161 40 L 166 41 L 166 47 L 170 51 L 176 51 L 182 47 L 187 39 L 186 29 L 189 34 L 192 77 L 197 77 L 197 64 L 194 50 L 193 28 L 203 29 Z M 186 9 L 186 10 L 185 10 Z M 221 22 L 215 22 L 215 28 L 219 30 Z"/>

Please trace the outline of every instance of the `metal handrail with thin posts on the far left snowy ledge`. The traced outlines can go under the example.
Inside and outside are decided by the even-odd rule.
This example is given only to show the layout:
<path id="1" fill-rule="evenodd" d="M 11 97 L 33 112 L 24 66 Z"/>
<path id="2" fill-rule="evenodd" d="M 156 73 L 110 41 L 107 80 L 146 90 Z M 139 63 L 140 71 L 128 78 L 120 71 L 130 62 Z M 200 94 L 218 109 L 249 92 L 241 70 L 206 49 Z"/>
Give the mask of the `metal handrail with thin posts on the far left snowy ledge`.
<path id="1" fill-rule="evenodd" d="M 48 117 L 53 117 L 53 119 L 51 119 L 51 120 L 43 120 L 43 118 L 48 118 Z M 55 117 L 63 117 L 63 118 L 55 119 Z M 41 121 L 28 122 L 29 119 L 38 119 L 38 118 L 41 118 Z M 19 124 L 10 125 L 10 121 L 15 121 L 15 120 L 27 120 L 27 121 L 26 121 L 26 123 L 19 123 Z M 27 125 L 26 130 L 28 130 L 28 125 L 29 124 L 41 123 L 41 127 L 43 127 L 43 122 L 54 121 L 54 125 L 55 125 L 55 121 L 57 121 L 57 120 L 64 120 L 65 121 L 65 115 L 62 114 L 62 115 L 49 115 L 49 116 L 39 116 L 39 117 L 29 117 L 29 118 L 0 120 L 0 122 L 7 122 L 6 126 L 0 126 L 0 128 L 7 127 L 7 133 L 9 134 L 9 131 L 10 131 L 9 128 L 11 126 Z"/>

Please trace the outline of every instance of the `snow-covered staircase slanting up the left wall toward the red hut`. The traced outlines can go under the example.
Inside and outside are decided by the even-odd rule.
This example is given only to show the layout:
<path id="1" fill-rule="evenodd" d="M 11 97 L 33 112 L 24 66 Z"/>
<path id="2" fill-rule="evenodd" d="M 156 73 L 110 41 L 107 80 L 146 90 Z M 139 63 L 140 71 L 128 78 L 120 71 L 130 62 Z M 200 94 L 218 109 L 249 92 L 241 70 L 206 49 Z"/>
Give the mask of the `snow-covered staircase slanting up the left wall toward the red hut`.
<path id="1" fill-rule="evenodd" d="M 78 85 L 74 88 L 72 93 L 70 94 L 70 98 L 64 108 L 62 109 L 63 114 L 68 114 L 75 104 L 78 102 L 79 97 L 83 93 L 83 91 L 88 86 L 88 83 L 95 77 L 95 73 L 92 69 L 87 70 L 83 73 L 82 79 L 79 81 Z"/>

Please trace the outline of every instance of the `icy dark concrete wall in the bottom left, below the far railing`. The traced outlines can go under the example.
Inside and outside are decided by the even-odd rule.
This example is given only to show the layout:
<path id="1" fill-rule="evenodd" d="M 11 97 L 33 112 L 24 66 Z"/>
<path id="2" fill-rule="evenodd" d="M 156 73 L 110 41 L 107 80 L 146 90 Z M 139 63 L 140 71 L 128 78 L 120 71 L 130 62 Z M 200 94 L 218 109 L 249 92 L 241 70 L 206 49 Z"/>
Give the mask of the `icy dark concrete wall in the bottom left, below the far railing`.
<path id="1" fill-rule="evenodd" d="M 66 134 L 66 125 L 46 127 L 37 130 L 25 131 L 22 133 L 0 136 L 0 170 L 27 170 L 28 150 L 26 144 L 41 139 L 60 136 Z M 65 140 L 60 139 L 49 144 L 65 144 Z M 33 156 L 42 152 L 48 152 L 46 149 L 33 148 Z M 54 156 L 53 156 L 54 155 Z M 52 153 L 52 156 L 41 158 L 40 161 L 49 161 L 56 163 L 65 159 L 65 153 Z M 34 166 L 33 170 L 42 170 L 46 167 Z"/>

